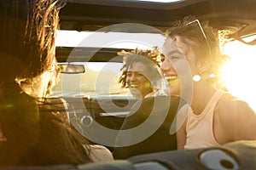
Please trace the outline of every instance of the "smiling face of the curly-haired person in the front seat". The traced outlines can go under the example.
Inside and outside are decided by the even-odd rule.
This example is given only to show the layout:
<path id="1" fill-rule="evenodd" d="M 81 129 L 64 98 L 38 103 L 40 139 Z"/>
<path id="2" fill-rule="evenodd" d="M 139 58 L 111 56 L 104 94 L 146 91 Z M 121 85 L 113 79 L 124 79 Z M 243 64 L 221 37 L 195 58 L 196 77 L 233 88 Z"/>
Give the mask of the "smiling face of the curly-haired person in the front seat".
<path id="1" fill-rule="evenodd" d="M 143 99 L 147 94 L 153 92 L 148 74 L 150 74 L 150 71 L 148 71 L 147 65 L 142 62 L 134 62 L 129 66 L 126 83 L 131 94 L 135 97 Z"/>

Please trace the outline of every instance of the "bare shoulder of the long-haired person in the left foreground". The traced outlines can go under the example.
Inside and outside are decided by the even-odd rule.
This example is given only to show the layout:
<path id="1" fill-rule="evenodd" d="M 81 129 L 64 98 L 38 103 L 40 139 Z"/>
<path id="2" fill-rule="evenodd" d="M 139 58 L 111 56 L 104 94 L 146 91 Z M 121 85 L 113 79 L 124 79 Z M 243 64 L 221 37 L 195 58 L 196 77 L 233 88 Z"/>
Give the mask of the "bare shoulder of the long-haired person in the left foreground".
<path id="1" fill-rule="evenodd" d="M 113 161 L 113 155 L 106 148 L 100 144 L 91 144 L 90 145 L 90 158 L 92 161 Z"/>

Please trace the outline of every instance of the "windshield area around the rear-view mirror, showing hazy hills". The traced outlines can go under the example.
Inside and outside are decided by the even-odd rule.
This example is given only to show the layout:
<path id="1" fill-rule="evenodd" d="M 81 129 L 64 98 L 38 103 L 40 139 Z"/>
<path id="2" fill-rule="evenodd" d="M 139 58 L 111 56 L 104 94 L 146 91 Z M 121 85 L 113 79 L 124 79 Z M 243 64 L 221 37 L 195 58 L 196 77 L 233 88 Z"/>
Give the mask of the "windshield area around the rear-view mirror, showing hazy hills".
<path id="1" fill-rule="evenodd" d="M 60 63 L 65 64 L 65 63 Z M 96 95 L 128 95 L 119 83 L 122 63 L 117 62 L 74 62 L 84 65 L 84 73 L 61 73 L 53 89 L 52 97 L 89 97 Z"/>

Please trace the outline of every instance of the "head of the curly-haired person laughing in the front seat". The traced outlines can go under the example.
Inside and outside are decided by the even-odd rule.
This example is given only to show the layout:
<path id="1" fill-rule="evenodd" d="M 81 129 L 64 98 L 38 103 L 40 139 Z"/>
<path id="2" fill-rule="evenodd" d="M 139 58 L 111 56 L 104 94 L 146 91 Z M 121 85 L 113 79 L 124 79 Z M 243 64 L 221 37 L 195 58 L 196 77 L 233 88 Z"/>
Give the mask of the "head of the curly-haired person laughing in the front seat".
<path id="1" fill-rule="evenodd" d="M 161 53 L 158 48 L 122 51 L 119 55 L 123 55 L 124 58 L 119 82 L 123 87 L 129 88 L 133 96 L 145 99 L 168 93 L 165 80 L 160 73 Z"/>

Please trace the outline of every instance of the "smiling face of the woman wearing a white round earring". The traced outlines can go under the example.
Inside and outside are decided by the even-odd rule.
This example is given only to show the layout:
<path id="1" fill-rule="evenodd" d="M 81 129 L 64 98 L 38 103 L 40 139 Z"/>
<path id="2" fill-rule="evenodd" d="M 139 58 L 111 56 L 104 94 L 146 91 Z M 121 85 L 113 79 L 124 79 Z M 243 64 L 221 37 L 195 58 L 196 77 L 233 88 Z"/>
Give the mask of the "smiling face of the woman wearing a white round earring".
<path id="1" fill-rule="evenodd" d="M 163 46 L 165 59 L 160 67 L 169 85 L 169 94 L 183 95 L 192 87 L 191 74 L 196 72 L 195 54 L 179 36 L 168 37 Z"/>

